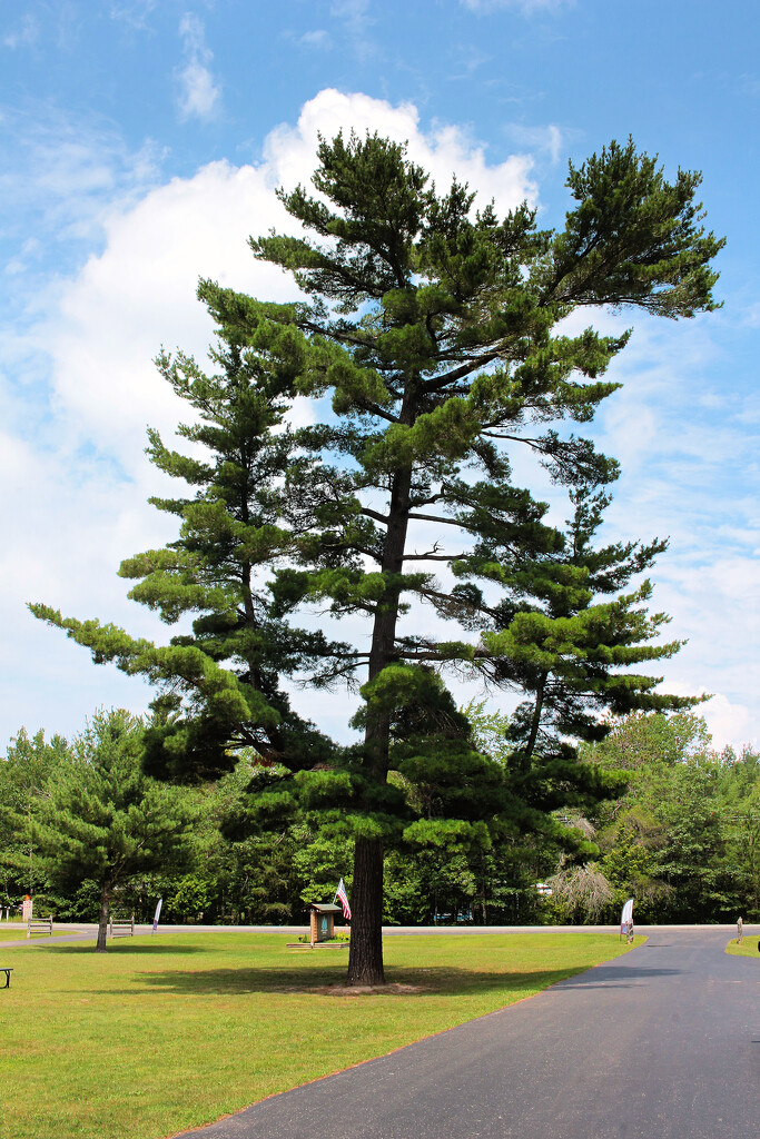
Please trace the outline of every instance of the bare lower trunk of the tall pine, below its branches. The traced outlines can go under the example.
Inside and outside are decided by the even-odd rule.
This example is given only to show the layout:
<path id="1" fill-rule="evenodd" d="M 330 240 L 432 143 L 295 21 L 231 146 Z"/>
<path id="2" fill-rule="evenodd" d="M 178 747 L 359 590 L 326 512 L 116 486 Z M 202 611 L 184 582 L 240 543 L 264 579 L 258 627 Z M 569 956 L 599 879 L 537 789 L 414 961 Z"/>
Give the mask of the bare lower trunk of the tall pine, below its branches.
<path id="1" fill-rule="evenodd" d="M 374 838 L 358 838 L 351 896 L 349 984 L 385 984 L 382 924 L 383 844 Z"/>

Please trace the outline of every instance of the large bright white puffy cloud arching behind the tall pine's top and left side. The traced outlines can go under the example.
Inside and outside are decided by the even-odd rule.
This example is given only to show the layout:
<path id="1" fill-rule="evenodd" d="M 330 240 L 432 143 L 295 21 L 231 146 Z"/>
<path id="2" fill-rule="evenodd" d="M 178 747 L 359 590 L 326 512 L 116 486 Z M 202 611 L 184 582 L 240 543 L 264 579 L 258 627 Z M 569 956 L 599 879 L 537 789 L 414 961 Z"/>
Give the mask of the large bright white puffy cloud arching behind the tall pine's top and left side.
<path id="1" fill-rule="evenodd" d="M 483 149 L 459 129 L 420 131 L 410 105 L 320 92 L 296 126 L 270 133 L 260 166 L 212 163 L 105 215 L 104 252 L 64 285 L 52 316 L 33 334 L 50 354 L 55 404 L 71 440 L 91 436 L 132 470 L 146 421 L 173 421 L 174 396 L 157 383 L 150 361 L 162 344 L 204 353 L 211 326 L 195 301 L 199 276 L 272 298 L 294 295 L 289 277 L 254 261 L 246 238 L 272 226 L 297 231 L 273 187 L 307 182 L 318 132 L 330 137 L 341 128 L 408 140 L 411 156 L 440 186 L 456 171 L 501 208 L 534 196 L 526 157 L 489 166 Z"/>

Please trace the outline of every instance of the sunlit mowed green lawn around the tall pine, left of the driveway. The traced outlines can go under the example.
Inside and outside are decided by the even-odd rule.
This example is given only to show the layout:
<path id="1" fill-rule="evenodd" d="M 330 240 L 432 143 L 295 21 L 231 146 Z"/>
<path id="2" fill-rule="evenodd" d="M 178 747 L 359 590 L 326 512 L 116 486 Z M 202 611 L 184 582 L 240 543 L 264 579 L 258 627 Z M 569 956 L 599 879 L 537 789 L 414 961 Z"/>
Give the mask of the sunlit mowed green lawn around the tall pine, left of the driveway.
<path id="1" fill-rule="evenodd" d="M 182 933 L 119 940 L 105 954 L 91 943 L 1 950 L 15 972 L 0 991 L 0 1134 L 175 1134 L 626 952 L 593 933 L 387 937 L 391 991 L 351 995 L 340 988 L 348 950 L 288 940 Z"/>

